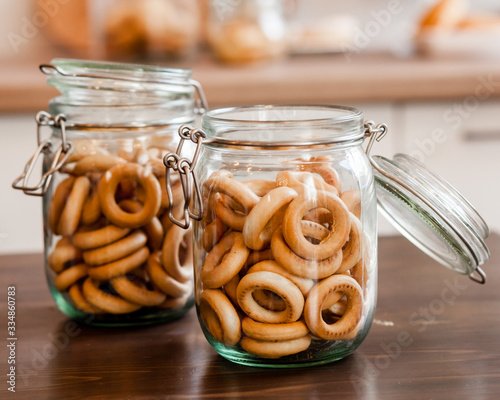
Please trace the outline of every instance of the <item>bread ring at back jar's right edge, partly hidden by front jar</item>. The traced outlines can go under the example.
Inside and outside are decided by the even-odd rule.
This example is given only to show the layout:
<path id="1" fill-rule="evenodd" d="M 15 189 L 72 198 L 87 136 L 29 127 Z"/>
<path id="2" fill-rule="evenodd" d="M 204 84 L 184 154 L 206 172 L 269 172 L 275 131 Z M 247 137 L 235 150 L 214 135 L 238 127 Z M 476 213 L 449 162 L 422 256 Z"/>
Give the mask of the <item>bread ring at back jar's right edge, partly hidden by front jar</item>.
<path id="1" fill-rule="evenodd" d="M 187 237 L 187 240 L 185 238 Z M 163 241 L 161 260 L 163 268 L 179 282 L 190 281 L 193 277 L 193 252 L 191 248 L 191 229 L 185 230 L 177 225 L 170 228 Z M 180 253 L 185 258 L 181 262 Z"/>

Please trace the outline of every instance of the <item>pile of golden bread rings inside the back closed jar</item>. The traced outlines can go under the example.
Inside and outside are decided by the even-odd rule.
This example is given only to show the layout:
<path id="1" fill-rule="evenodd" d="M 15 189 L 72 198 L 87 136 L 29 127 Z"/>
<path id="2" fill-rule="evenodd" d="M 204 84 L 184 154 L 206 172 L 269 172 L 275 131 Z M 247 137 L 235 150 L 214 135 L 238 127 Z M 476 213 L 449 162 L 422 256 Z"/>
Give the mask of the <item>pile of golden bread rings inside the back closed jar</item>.
<path id="1" fill-rule="evenodd" d="M 85 313 L 166 312 L 192 298 L 191 232 L 167 211 L 162 156 L 171 150 L 134 147 L 71 155 L 50 202 L 53 285 Z M 172 189 L 179 204 L 180 182 Z"/>

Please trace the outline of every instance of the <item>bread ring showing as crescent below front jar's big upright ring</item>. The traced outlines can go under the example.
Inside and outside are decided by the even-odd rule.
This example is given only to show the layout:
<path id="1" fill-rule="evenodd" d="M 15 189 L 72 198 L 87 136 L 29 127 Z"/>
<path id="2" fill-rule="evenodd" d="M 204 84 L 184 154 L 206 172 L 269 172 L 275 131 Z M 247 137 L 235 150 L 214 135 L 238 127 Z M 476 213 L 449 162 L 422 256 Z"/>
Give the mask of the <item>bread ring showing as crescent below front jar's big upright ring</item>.
<path id="1" fill-rule="evenodd" d="M 306 260 L 295 254 L 283 239 L 281 228 L 276 229 L 271 239 L 271 251 L 276 262 L 301 278 L 323 279 L 333 275 L 342 263 L 342 251 L 324 260 Z"/>

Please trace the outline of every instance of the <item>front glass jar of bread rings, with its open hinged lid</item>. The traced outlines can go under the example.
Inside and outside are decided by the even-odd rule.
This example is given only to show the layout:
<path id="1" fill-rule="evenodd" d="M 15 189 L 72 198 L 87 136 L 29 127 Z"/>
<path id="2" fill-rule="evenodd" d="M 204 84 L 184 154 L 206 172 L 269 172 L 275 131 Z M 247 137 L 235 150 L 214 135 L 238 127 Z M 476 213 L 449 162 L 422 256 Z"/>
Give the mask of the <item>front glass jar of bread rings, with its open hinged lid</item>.
<path id="1" fill-rule="evenodd" d="M 377 299 L 377 197 L 388 213 L 398 209 L 399 227 L 427 253 L 461 273 L 484 276 L 484 221 L 462 204 L 467 217 L 457 212 L 453 222 L 471 236 L 466 244 L 435 215 L 441 205 L 432 196 L 404 198 L 407 189 L 415 191 L 405 170 L 422 187 L 437 182 L 411 159 L 377 164 L 367 154 L 386 130 L 337 106 L 212 110 L 203 115 L 202 130 L 180 129 L 198 150 L 192 164 L 165 157 L 167 185 L 170 169 L 194 184 L 185 215 L 194 219 L 196 307 L 220 355 L 250 366 L 296 367 L 339 360 L 361 344 Z M 376 183 L 384 189 L 376 191 Z M 459 204 L 462 198 L 446 187 L 438 200 Z M 189 226 L 189 220 L 176 223 Z M 429 227 L 438 225 L 432 233 Z"/>

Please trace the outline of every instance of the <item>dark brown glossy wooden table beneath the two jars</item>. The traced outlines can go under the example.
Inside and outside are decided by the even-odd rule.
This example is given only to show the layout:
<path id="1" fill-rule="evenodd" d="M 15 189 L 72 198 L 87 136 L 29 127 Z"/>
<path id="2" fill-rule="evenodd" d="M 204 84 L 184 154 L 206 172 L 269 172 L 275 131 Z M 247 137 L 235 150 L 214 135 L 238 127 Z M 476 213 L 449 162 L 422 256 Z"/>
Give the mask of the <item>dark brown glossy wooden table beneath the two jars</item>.
<path id="1" fill-rule="evenodd" d="M 361 347 L 332 364 L 249 368 L 218 356 L 194 310 L 168 325 L 101 329 L 68 321 L 47 289 L 40 255 L 0 257 L 0 336 L 7 286 L 17 291 L 16 394 L 9 399 L 498 399 L 500 236 L 488 282 L 438 266 L 403 238 L 380 240 L 379 303 Z M 4 342 L 5 343 L 5 342 Z"/>

